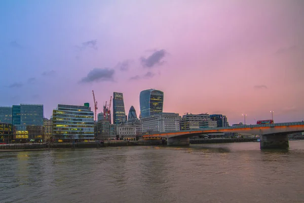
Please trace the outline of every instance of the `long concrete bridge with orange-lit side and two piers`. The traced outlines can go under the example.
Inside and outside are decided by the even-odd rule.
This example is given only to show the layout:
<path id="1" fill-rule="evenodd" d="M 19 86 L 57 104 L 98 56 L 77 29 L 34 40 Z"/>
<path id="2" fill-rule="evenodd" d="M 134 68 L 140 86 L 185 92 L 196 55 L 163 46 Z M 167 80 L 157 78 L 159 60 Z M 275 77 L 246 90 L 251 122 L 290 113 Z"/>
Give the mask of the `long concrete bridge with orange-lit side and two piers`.
<path id="1" fill-rule="evenodd" d="M 142 138 L 165 138 L 167 139 L 167 145 L 185 146 L 189 145 L 190 137 L 218 132 L 258 134 L 260 136 L 260 149 L 288 148 L 288 134 L 295 132 L 304 132 L 304 122 L 238 125 L 229 127 L 207 127 L 192 130 L 149 133 L 144 134 Z"/>

